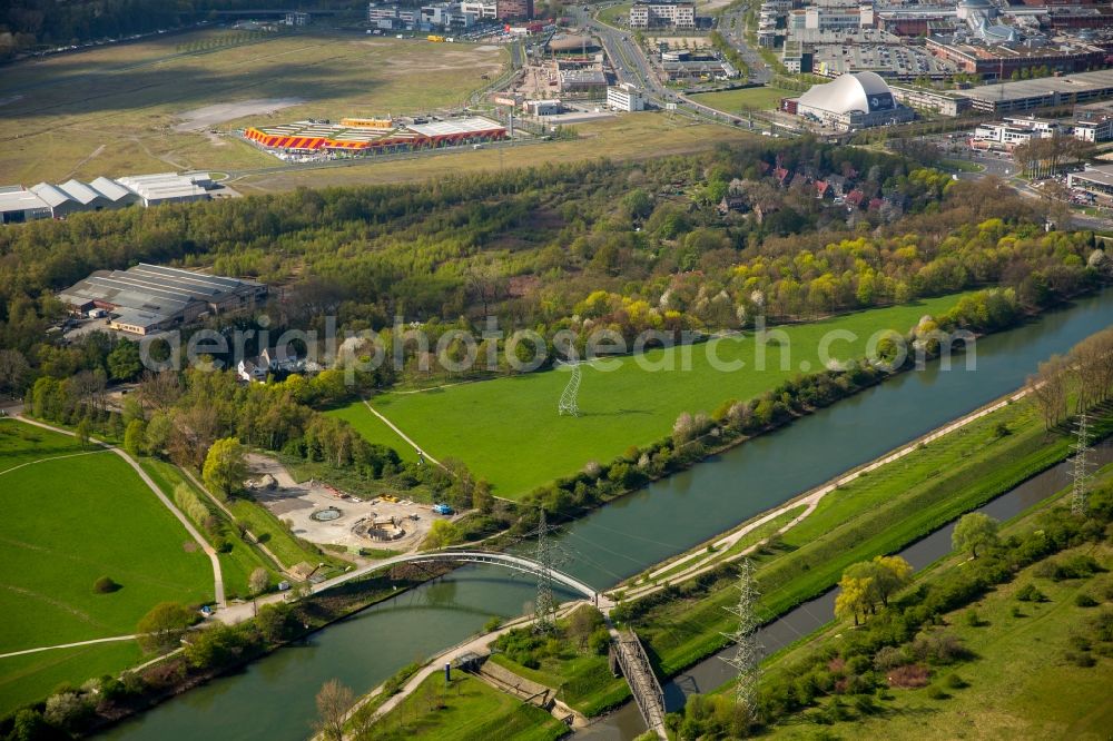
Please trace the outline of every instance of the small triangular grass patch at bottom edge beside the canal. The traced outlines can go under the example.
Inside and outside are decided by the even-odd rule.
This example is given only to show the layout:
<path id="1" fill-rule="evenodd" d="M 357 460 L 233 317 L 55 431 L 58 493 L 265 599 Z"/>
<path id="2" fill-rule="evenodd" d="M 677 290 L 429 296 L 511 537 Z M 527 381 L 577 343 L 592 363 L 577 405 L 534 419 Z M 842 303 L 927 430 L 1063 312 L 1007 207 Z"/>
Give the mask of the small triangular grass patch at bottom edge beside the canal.
<path id="1" fill-rule="evenodd" d="M 376 741 L 553 741 L 568 727 L 545 711 L 520 702 L 463 673 L 444 685 L 437 672 L 375 723 Z M 371 737 L 368 737 L 371 738 Z"/>

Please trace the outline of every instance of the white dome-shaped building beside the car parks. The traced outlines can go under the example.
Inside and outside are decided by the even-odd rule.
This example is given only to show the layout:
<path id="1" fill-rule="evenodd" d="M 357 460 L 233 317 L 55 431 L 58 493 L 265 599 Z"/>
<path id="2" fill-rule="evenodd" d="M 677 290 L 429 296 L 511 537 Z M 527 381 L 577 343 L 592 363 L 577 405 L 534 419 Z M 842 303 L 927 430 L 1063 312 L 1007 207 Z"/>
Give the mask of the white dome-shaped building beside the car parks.
<path id="1" fill-rule="evenodd" d="M 817 85 L 797 100 L 798 116 L 840 131 L 910 121 L 915 113 L 897 103 L 888 83 L 876 72 L 847 72 Z"/>

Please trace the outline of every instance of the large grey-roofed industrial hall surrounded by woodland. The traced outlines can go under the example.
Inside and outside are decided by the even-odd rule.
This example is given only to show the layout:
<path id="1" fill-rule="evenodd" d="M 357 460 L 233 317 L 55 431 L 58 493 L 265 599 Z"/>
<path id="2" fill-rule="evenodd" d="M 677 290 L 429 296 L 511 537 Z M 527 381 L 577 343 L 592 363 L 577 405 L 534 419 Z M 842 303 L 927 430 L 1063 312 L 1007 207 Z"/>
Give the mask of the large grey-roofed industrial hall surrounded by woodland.
<path id="1" fill-rule="evenodd" d="M 127 270 L 98 270 L 58 299 L 76 313 L 107 312 L 112 329 L 148 335 L 205 314 L 250 308 L 266 295 L 267 287 L 254 280 L 140 263 Z"/>

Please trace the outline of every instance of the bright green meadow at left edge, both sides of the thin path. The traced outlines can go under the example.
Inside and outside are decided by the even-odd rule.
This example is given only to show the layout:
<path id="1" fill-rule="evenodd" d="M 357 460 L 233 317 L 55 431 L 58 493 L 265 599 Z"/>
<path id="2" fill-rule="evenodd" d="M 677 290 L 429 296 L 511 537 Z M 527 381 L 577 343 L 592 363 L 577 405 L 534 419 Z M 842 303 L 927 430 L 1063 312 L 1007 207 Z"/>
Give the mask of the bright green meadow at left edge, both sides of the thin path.
<path id="1" fill-rule="evenodd" d="M 126 462 L 75 455 L 86 452 L 71 437 L 0 421 L 0 653 L 129 634 L 158 602 L 213 599 L 208 557 L 174 515 Z M 30 463 L 42 458 L 53 460 Z M 100 576 L 121 589 L 97 594 Z M 136 655 L 109 645 L 0 659 L 0 713 Z"/>

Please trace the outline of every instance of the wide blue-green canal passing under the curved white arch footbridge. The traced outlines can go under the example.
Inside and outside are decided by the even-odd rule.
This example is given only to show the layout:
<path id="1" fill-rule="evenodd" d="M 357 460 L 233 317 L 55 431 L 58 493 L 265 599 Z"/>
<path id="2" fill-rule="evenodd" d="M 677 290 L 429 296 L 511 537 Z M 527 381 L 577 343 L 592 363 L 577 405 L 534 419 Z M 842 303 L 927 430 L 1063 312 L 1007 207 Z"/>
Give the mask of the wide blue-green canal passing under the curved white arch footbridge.
<path id="1" fill-rule="evenodd" d="M 951 370 L 932 363 L 925 370 L 903 374 L 749 441 L 565 527 L 562 544 L 570 560 L 560 567 L 598 589 L 609 587 L 1018 388 L 1040 360 L 1066 352 L 1110 324 L 1113 290 L 1105 290 L 1038 322 L 981 339 L 974 372 L 965 370 L 961 357 Z M 938 537 L 945 547 L 949 536 Z M 923 545 L 927 542 L 917 545 L 927 549 Z M 937 556 L 928 552 L 924 557 Z M 479 632 L 492 615 L 522 614 L 532 596 L 528 577 L 493 566 L 459 569 L 329 626 L 304 645 L 283 649 L 239 673 L 162 703 L 101 738 L 304 739 L 316 717 L 314 696 L 327 680 L 336 678 L 357 693 L 366 692 L 406 663 Z M 771 632 L 778 625 L 792 640 L 823 624 L 830 615 L 825 599 L 833 597 L 794 611 L 810 612 L 818 622 L 808 628 L 778 621 L 764 639 L 766 645 L 778 645 Z M 711 672 L 717 663 L 721 662 L 700 666 Z M 698 669 L 678 682 L 670 684 L 673 700 L 681 688 L 707 690 L 718 683 Z M 639 728 L 643 729 L 640 718 L 630 705 L 585 735 L 626 740 Z"/>

